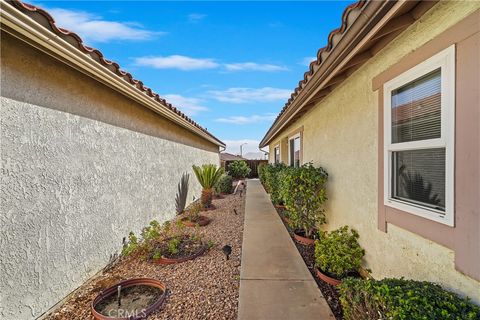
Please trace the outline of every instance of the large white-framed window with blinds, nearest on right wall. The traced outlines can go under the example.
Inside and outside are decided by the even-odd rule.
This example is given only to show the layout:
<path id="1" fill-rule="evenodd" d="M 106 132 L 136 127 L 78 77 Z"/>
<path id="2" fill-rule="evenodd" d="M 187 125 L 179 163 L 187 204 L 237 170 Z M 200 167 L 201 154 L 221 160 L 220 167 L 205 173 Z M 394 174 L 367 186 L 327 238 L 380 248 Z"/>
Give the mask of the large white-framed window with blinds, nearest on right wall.
<path id="1" fill-rule="evenodd" d="M 384 85 L 385 205 L 454 223 L 455 46 Z"/>

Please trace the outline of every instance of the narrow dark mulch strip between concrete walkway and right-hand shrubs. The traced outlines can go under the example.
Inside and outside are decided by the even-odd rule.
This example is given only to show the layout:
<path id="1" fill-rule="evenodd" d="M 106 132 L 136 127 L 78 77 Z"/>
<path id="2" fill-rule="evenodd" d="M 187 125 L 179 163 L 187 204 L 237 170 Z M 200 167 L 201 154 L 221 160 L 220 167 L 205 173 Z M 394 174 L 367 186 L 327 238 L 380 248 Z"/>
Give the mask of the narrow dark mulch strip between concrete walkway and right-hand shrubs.
<path id="1" fill-rule="evenodd" d="M 283 209 L 278 209 L 276 208 L 278 215 L 280 218 L 282 217 L 282 211 Z M 307 265 L 308 270 L 312 274 L 313 278 L 315 279 L 315 282 L 317 282 L 318 288 L 322 292 L 323 296 L 325 297 L 325 300 L 327 300 L 328 305 L 330 306 L 330 309 L 332 309 L 333 315 L 335 316 L 335 319 L 341 320 L 343 319 L 343 311 L 342 311 L 342 306 L 340 304 L 339 300 L 339 294 L 338 290 L 335 286 L 332 286 L 328 283 L 323 282 L 322 280 L 318 279 L 316 275 L 316 270 L 315 270 L 315 246 L 305 246 L 302 245 L 298 242 L 296 242 L 293 238 L 293 230 L 290 228 L 290 226 L 282 219 L 283 224 L 285 225 L 285 228 L 287 228 L 288 233 L 290 234 L 290 237 L 292 237 L 293 242 L 297 246 L 298 252 L 300 252 L 300 255 L 303 258 L 303 261 L 305 261 L 305 264 Z"/>

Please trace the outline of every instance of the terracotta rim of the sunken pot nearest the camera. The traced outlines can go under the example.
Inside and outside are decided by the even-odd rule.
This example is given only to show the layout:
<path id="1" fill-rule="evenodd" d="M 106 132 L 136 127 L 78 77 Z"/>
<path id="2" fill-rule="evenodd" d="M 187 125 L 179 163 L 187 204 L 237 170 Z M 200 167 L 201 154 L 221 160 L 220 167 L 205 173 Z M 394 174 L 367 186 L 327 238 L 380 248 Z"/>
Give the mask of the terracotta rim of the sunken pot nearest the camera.
<path id="1" fill-rule="evenodd" d="M 163 293 L 160 295 L 160 297 L 152 303 L 150 306 L 145 308 L 143 312 L 139 313 L 136 316 L 130 315 L 128 318 L 115 318 L 115 317 L 108 317 L 105 316 L 101 313 L 99 313 L 95 307 L 106 297 L 110 297 L 111 295 L 116 295 L 117 294 L 117 287 L 122 286 L 122 288 L 128 288 L 128 287 L 133 287 L 133 286 L 151 286 L 155 288 L 159 288 L 160 290 L 163 291 Z M 166 292 L 167 292 L 167 287 L 165 284 L 161 281 L 151 279 L 151 278 L 136 278 L 136 279 L 130 279 L 130 280 L 125 280 L 121 281 L 111 287 L 109 287 L 106 290 L 103 290 L 100 292 L 100 294 L 92 301 L 90 305 L 90 310 L 92 311 L 92 315 L 95 319 L 98 320 L 137 320 L 137 319 L 145 319 L 148 315 L 151 313 L 155 312 L 157 309 L 159 309 L 163 302 L 165 301 L 166 297 Z"/>

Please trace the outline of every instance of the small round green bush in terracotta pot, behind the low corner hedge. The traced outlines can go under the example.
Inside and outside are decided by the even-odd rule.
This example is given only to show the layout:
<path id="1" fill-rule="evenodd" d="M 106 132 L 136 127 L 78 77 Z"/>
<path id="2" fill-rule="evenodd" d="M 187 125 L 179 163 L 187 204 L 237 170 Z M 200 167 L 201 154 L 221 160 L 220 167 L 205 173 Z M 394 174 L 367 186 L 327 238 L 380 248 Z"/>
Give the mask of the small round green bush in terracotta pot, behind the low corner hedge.
<path id="1" fill-rule="evenodd" d="M 336 286 L 345 277 L 359 276 L 365 250 L 358 238 L 358 232 L 348 226 L 330 233 L 319 232 L 319 239 L 315 241 L 315 266 L 321 280 Z"/>

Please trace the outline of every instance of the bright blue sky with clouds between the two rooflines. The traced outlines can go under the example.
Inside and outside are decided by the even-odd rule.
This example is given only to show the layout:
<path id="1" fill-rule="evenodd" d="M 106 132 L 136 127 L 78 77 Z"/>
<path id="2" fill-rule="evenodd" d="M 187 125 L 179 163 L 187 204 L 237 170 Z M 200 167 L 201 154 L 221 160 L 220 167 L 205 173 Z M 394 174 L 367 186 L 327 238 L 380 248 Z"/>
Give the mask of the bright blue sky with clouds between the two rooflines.
<path id="1" fill-rule="evenodd" d="M 142 80 L 228 150 L 258 142 L 308 61 L 341 24 L 345 1 L 45 1 L 59 26 Z"/>

